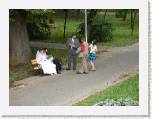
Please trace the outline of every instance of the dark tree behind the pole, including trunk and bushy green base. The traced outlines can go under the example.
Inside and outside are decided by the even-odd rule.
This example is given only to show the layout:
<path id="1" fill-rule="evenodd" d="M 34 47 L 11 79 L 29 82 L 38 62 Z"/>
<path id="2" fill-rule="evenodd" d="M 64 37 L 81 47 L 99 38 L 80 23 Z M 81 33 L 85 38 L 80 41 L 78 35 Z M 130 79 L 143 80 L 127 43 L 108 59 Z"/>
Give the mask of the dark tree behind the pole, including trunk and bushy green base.
<path id="1" fill-rule="evenodd" d="M 97 41 L 107 41 L 112 39 L 112 24 L 105 20 L 107 11 L 104 11 L 103 17 L 97 14 L 97 10 L 87 10 L 88 11 L 88 41 L 93 39 Z M 85 33 L 84 22 L 82 22 L 78 27 L 78 35 L 82 37 Z"/>

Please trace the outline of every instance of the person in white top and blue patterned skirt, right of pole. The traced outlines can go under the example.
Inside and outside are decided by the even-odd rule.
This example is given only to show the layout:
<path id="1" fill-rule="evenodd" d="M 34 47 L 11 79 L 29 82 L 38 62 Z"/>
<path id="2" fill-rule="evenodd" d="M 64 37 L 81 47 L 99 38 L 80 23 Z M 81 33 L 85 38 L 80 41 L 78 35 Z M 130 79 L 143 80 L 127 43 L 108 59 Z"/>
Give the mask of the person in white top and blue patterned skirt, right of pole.
<path id="1" fill-rule="evenodd" d="M 91 70 L 95 71 L 95 61 L 96 61 L 96 52 L 97 52 L 97 45 L 96 40 L 93 40 L 92 43 L 89 45 L 89 61 L 91 64 Z"/>

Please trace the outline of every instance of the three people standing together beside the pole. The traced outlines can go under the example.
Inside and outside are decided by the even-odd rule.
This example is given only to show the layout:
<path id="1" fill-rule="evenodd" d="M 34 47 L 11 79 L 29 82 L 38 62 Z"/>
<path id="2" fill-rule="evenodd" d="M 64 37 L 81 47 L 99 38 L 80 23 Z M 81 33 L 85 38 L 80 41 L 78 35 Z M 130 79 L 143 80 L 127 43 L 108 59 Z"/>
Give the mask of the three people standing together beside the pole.
<path id="1" fill-rule="evenodd" d="M 88 74 L 87 61 L 89 60 L 91 64 L 91 71 L 95 71 L 95 61 L 97 45 L 96 40 L 93 40 L 89 45 L 85 38 L 78 40 L 75 35 L 68 39 L 66 46 L 68 47 L 68 68 L 71 70 L 71 65 L 73 64 L 73 70 L 76 70 L 77 66 L 77 56 L 80 58 L 81 66 L 78 69 L 78 74 Z"/>

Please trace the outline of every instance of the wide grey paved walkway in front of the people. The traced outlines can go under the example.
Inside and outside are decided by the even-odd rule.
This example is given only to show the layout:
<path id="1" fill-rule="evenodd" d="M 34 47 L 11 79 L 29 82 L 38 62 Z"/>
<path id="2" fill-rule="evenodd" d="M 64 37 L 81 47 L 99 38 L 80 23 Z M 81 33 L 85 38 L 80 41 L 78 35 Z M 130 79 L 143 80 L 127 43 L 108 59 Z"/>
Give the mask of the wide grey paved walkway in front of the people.
<path id="1" fill-rule="evenodd" d="M 32 76 L 16 82 L 21 85 L 10 88 L 10 105 L 70 106 L 112 85 L 126 74 L 138 72 L 138 64 L 138 44 L 110 48 L 98 57 L 95 72 L 78 75 L 63 71 L 60 75 Z"/>

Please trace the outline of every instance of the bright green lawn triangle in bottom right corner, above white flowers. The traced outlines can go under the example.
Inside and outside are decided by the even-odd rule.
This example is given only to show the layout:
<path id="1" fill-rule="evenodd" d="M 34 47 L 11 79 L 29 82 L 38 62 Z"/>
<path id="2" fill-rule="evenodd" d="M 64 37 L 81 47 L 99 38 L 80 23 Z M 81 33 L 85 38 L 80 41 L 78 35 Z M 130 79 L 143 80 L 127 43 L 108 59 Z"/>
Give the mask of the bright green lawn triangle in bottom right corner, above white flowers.
<path id="1" fill-rule="evenodd" d="M 105 99 L 119 99 L 131 97 L 135 101 L 139 101 L 139 75 L 132 76 L 127 80 L 111 86 L 103 91 L 74 104 L 76 106 L 91 106 Z"/>

